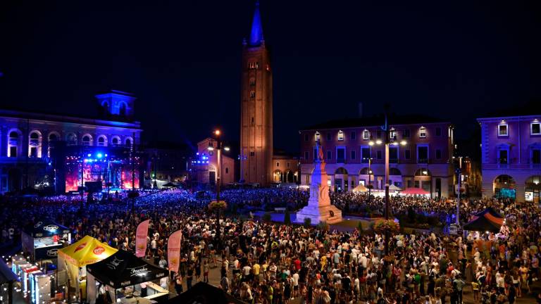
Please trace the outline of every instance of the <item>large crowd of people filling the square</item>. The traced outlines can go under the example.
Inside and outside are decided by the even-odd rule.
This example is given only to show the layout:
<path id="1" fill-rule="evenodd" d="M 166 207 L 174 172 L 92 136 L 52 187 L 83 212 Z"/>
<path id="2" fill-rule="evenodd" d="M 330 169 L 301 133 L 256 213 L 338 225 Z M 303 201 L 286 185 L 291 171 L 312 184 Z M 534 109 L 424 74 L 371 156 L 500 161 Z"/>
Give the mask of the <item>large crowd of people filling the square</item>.
<path id="1" fill-rule="evenodd" d="M 287 203 L 299 208 L 307 194 L 297 189 L 228 190 L 228 205 Z M 38 200 L 38 201 L 36 201 Z M 347 201 L 349 200 L 349 201 Z M 382 208 L 380 198 L 366 194 L 332 194 L 340 208 Z M 354 230 L 271 224 L 251 218 L 209 213 L 209 198 L 182 190 L 139 197 L 135 212 L 127 203 L 95 203 L 80 209 L 63 198 L 8 201 L 0 199 L 2 243 L 17 243 L 20 229 L 44 217 L 69 227 L 75 239 L 93 236 L 116 248 L 135 251 L 135 229 L 151 220 L 148 258 L 166 265 L 166 240 L 183 231 L 180 271 L 173 278 L 180 293 L 197 281 L 209 281 L 220 268 L 220 288 L 248 303 L 281 304 L 292 298 L 320 303 L 461 303 L 464 289 L 490 303 L 514 303 L 528 296 L 539 277 L 540 210 L 533 204 L 496 199 L 464 200 L 461 218 L 492 206 L 506 217 L 506 239 L 490 234 L 490 245 L 461 236 L 397 234 L 383 236 Z M 392 198 L 394 213 L 452 213 L 456 205 L 429 198 Z M 293 208 L 295 207 L 295 208 Z M 240 208 L 240 209 L 242 209 Z M 217 231 L 220 229 L 220 233 Z M 219 236 L 219 238 L 218 238 Z M 467 287 L 466 287 L 467 286 Z"/>

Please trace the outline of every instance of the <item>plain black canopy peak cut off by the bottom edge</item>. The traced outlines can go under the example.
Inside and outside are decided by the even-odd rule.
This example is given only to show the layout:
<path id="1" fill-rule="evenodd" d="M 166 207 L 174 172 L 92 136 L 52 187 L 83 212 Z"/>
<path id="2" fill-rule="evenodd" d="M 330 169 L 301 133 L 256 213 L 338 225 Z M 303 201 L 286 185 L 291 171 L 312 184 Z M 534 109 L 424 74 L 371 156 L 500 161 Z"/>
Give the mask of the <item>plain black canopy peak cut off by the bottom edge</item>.
<path id="1" fill-rule="evenodd" d="M 201 303 L 201 304 L 245 304 L 246 302 L 233 298 L 222 289 L 214 287 L 200 281 L 191 289 L 179 296 L 168 300 L 167 304 L 184 304 L 184 303 Z"/>

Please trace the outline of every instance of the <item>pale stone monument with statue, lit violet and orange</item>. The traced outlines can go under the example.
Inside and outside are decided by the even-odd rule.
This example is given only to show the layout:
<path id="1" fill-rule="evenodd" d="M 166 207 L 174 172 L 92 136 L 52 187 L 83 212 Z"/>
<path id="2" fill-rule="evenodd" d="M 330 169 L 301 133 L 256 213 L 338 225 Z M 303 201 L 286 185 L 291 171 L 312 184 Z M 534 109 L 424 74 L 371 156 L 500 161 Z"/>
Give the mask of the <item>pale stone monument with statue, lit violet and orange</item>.
<path id="1" fill-rule="evenodd" d="M 325 172 L 325 160 L 323 149 L 319 141 L 316 142 L 318 156 L 313 161 L 313 172 L 310 183 L 310 198 L 308 205 L 297 212 L 297 222 L 304 222 L 309 217 L 312 224 L 327 222 L 335 224 L 342 222 L 342 210 L 330 204 L 327 172 Z"/>

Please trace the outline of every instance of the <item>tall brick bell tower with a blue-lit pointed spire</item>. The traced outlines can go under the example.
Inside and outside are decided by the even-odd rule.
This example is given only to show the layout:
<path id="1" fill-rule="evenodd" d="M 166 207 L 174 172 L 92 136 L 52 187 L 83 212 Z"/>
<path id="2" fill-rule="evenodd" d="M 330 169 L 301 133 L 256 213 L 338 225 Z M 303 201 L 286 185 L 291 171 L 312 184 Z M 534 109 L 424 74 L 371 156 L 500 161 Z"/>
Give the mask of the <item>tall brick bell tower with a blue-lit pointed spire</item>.
<path id="1" fill-rule="evenodd" d="M 240 179 L 268 185 L 273 168 L 273 73 L 256 3 L 249 40 L 242 42 Z"/>

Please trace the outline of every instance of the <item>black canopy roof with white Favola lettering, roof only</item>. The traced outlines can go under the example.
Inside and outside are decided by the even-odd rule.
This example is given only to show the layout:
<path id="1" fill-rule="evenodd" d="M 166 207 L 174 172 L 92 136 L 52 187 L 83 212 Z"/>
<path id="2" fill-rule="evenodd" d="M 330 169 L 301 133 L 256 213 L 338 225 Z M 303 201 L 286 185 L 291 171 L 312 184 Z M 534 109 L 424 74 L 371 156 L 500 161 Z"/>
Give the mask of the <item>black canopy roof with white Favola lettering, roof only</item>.
<path id="1" fill-rule="evenodd" d="M 167 277 L 167 270 L 137 258 L 128 251 L 117 251 L 105 260 L 87 265 L 87 272 L 114 289 Z"/>

